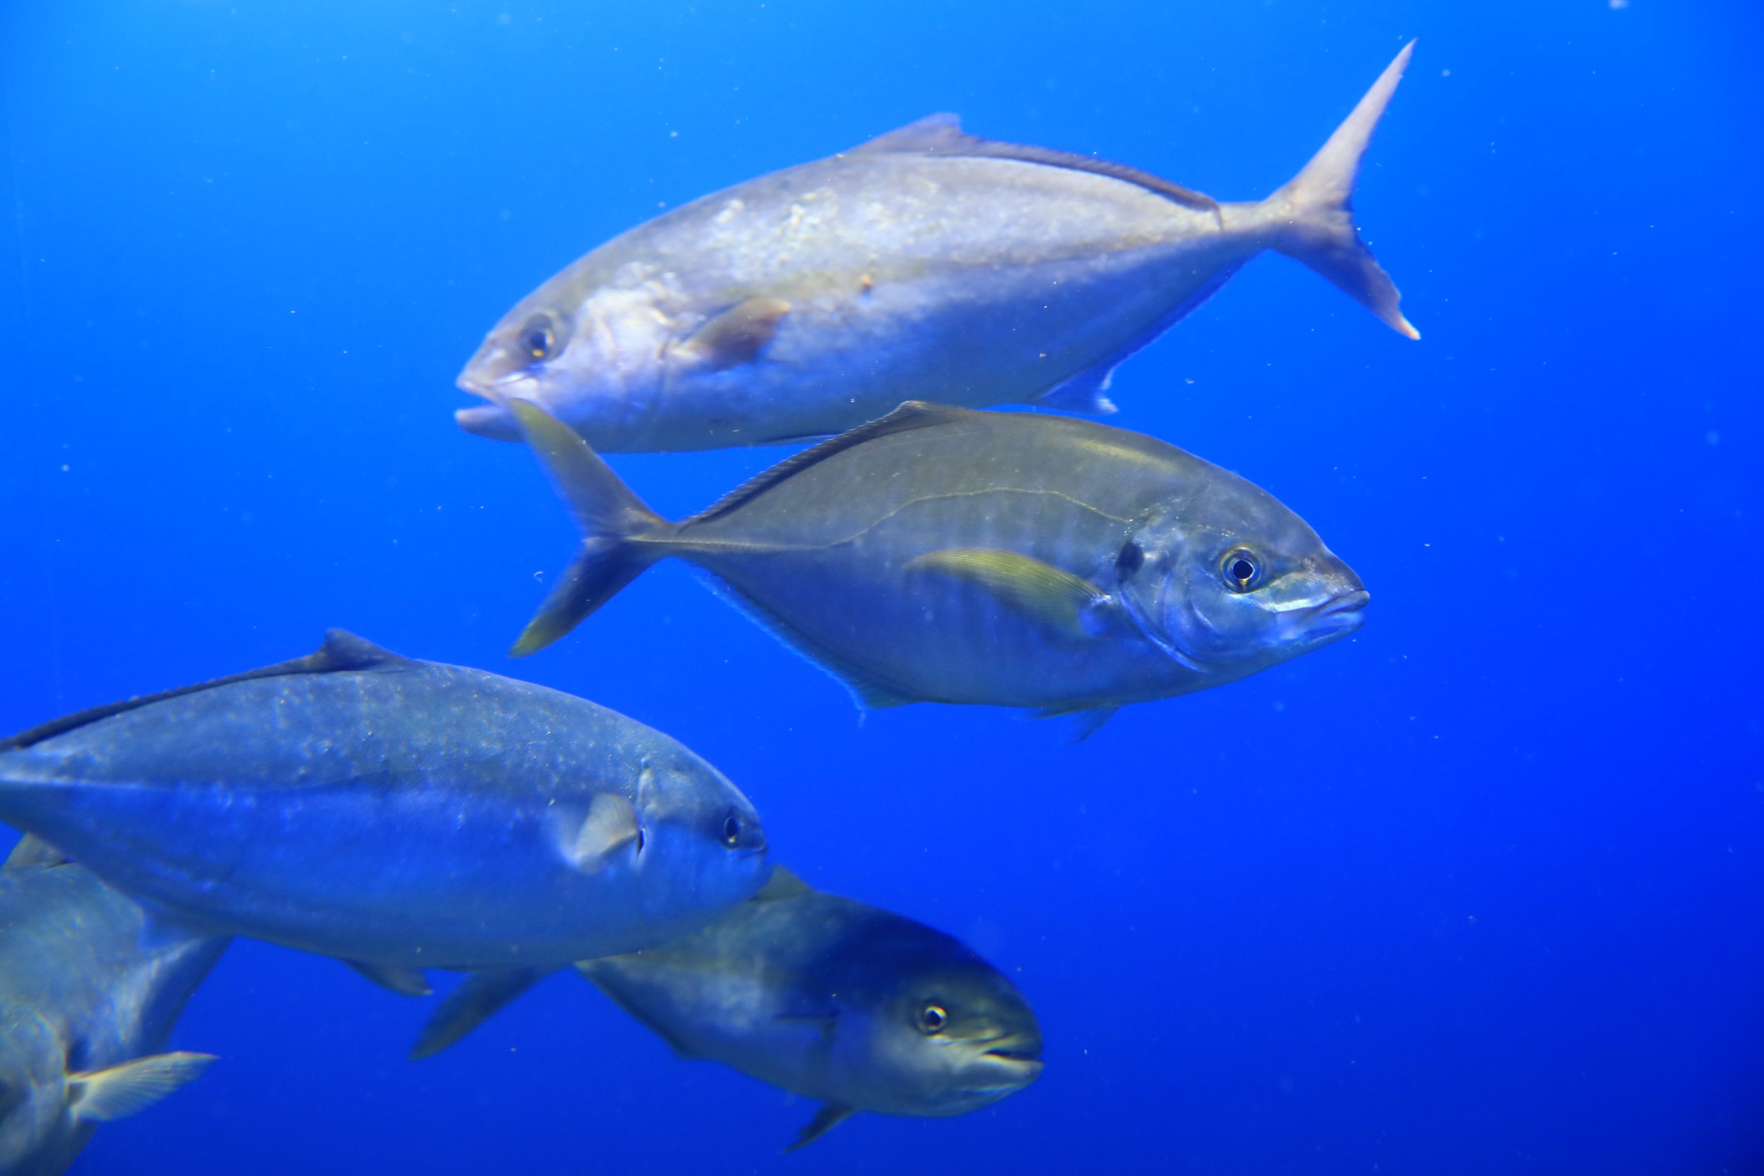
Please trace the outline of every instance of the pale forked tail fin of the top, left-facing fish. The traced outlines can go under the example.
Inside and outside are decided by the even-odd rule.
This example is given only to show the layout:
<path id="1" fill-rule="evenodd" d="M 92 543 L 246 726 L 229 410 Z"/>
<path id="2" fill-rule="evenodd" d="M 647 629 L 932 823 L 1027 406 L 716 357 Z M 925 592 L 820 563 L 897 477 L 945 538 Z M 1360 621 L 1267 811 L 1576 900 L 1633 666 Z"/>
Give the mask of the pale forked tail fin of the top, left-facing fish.
<path id="1" fill-rule="evenodd" d="M 1274 247 L 1288 257 L 1335 282 L 1349 298 L 1383 319 L 1392 330 L 1420 339 L 1422 333 L 1397 309 L 1401 294 L 1372 250 L 1360 242 L 1353 222 L 1353 183 L 1360 176 L 1360 157 L 1372 141 L 1372 129 L 1390 104 L 1402 69 L 1409 63 L 1415 42 L 1402 46 L 1346 122 L 1335 127 L 1323 150 L 1311 157 L 1305 169 L 1279 192 L 1268 197 L 1268 208 L 1284 213 Z"/>

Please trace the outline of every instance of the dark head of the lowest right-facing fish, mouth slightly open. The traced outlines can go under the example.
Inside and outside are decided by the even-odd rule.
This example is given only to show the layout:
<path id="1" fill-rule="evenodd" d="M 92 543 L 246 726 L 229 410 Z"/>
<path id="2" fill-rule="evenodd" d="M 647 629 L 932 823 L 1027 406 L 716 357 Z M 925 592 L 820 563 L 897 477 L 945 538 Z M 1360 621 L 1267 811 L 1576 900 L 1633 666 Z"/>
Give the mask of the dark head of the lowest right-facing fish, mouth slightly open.
<path id="1" fill-rule="evenodd" d="M 916 954 L 893 952 L 893 959 Z M 875 1007 L 840 1017 L 840 1038 L 856 1051 L 845 1065 L 866 1090 L 864 1105 L 889 1114 L 965 1114 L 1041 1076 L 1041 1026 L 1028 1001 L 986 961 L 967 949 L 958 956 L 905 963 Z"/>

